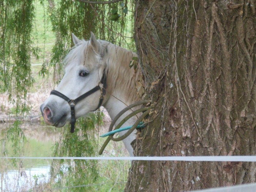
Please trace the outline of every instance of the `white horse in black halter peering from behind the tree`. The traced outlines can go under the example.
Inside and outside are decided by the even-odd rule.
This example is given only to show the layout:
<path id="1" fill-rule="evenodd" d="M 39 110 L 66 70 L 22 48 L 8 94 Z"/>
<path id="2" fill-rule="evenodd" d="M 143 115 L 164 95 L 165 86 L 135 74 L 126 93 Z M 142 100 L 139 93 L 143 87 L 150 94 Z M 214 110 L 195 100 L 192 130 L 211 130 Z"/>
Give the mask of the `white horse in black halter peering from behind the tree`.
<path id="1" fill-rule="evenodd" d="M 75 118 L 85 116 L 99 106 L 104 106 L 113 120 L 125 107 L 141 100 L 138 92 L 138 82 L 141 84 L 142 81 L 140 66 L 137 65 L 136 70 L 129 67 L 132 58 L 137 57 L 135 53 L 97 40 L 93 33 L 89 41 L 80 40 L 74 34 L 72 37 L 75 46 L 63 61 L 65 75 L 41 105 L 46 124 L 63 127 L 71 122 L 72 125 Z M 81 95 L 83 97 L 79 98 Z M 115 125 L 131 112 L 124 113 Z M 122 127 L 133 125 L 136 120 L 133 116 Z M 122 136 L 125 132 L 118 134 Z M 133 131 L 123 140 L 130 156 L 133 156 L 131 142 L 136 138 L 135 133 Z"/>

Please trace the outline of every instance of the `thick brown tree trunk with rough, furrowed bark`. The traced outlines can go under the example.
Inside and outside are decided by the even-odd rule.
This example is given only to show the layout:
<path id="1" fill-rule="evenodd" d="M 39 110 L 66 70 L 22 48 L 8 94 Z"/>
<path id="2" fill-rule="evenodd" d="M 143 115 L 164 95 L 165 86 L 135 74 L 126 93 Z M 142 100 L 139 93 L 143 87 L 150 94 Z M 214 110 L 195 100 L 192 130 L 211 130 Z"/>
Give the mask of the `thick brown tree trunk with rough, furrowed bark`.
<path id="1" fill-rule="evenodd" d="M 255 0 L 137 0 L 135 38 L 156 103 L 137 156 L 255 155 Z M 132 163 L 125 191 L 255 182 L 254 162 Z"/>

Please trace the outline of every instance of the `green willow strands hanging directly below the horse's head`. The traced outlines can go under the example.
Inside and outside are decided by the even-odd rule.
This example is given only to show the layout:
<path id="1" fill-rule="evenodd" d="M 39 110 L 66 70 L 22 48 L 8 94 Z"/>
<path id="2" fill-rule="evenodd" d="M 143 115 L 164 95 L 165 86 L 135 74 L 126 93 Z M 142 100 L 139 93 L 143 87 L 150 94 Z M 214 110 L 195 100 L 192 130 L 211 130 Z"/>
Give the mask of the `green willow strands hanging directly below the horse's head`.
<path id="1" fill-rule="evenodd" d="M 102 118 L 103 113 L 91 113 L 86 118 L 78 119 L 74 133 L 70 133 L 70 125 L 68 125 L 68 128 L 64 128 L 60 142 L 54 146 L 53 156 L 93 157 L 95 148 L 97 148 L 95 126 L 102 124 Z M 93 184 L 99 177 L 96 161 L 62 159 L 59 163 L 60 169 L 57 172 L 56 187 Z M 72 191 L 83 190 L 75 188 Z M 86 191 L 94 191 L 93 186 L 87 187 Z"/>

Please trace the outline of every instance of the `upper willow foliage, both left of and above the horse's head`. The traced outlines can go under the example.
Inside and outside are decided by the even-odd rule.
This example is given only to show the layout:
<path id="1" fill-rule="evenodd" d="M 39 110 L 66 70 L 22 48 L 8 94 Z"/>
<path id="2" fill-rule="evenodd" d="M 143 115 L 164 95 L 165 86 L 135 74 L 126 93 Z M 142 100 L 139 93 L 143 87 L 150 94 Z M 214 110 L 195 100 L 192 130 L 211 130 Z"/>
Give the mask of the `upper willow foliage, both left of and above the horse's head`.
<path id="1" fill-rule="evenodd" d="M 71 48 L 71 33 L 89 39 L 90 31 L 100 38 L 134 50 L 133 1 L 109 4 L 88 4 L 78 0 L 40 0 L 48 7 L 56 42 L 52 49 L 51 66 L 61 74 L 61 63 Z M 16 104 L 16 113 L 28 112 L 27 94 L 33 85 L 31 56 L 39 58 L 39 48 L 33 45 L 35 22 L 34 0 L 1 0 L 0 3 L 0 91 L 7 92 Z M 48 73 L 43 64 L 41 75 Z M 60 78 L 60 77 L 59 77 Z M 56 79 L 59 80 L 56 77 Z"/>

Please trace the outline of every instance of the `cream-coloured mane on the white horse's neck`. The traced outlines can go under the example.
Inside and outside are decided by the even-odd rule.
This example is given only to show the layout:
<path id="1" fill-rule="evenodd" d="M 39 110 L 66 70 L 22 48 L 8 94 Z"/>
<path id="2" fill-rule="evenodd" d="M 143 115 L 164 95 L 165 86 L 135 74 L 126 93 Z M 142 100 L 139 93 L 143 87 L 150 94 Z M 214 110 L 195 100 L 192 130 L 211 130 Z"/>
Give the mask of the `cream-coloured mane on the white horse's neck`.
<path id="1" fill-rule="evenodd" d="M 141 95 L 138 93 L 138 82 L 142 81 L 141 67 L 139 64 L 136 70 L 129 67 L 129 63 L 133 57 L 137 57 L 137 54 L 108 41 L 98 41 L 103 49 L 107 49 L 107 55 L 103 58 L 106 57 L 108 92 L 112 94 L 117 90 L 118 93 L 125 93 L 125 100 L 129 102 L 126 104 L 141 100 Z"/>

